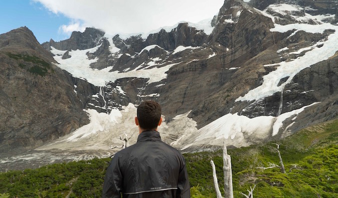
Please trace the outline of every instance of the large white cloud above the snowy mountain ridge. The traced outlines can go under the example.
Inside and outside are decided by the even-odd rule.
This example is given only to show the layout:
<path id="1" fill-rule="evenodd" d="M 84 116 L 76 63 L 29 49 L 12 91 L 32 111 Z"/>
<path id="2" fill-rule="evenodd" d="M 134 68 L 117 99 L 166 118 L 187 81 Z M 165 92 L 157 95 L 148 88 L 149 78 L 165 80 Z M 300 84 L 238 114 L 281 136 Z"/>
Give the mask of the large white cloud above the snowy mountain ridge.
<path id="1" fill-rule="evenodd" d="M 145 33 L 180 21 L 199 22 L 212 18 L 224 0 L 33 0 L 50 12 L 73 20 L 60 30 L 95 27 L 109 34 Z M 74 23 L 75 21 L 75 23 Z M 82 22 L 82 23 L 80 23 Z"/>

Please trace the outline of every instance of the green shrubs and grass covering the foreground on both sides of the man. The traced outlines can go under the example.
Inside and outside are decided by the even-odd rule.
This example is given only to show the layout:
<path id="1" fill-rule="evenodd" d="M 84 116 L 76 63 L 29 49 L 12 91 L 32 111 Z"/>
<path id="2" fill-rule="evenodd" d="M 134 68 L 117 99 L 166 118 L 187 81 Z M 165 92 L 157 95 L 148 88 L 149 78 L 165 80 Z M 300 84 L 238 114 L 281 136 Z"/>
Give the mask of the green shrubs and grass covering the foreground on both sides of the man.
<path id="1" fill-rule="evenodd" d="M 276 146 L 229 149 L 234 197 L 244 197 L 256 184 L 254 197 L 338 197 L 338 120 L 309 127 L 277 143 L 286 173 L 278 167 Z M 192 197 L 216 197 L 210 159 L 223 189 L 222 152 L 184 154 Z M 105 169 L 111 159 L 52 164 L 38 169 L 0 173 L 0 197 L 101 197 Z M 296 166 L 294 166 L 296 165 Z"/>

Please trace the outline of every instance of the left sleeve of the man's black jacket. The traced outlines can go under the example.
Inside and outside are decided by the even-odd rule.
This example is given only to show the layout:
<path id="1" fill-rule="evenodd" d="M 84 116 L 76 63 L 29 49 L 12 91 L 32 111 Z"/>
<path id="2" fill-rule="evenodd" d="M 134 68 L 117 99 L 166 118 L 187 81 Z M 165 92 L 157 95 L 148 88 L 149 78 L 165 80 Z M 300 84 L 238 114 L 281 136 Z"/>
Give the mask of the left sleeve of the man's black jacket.
<path id="1" fill-rule="evenodd" d="M 102 198 L 121 198 L 123 179 L 119 167 L 119 156 L 115 155 L 110 162 L 103 183 Z"/>

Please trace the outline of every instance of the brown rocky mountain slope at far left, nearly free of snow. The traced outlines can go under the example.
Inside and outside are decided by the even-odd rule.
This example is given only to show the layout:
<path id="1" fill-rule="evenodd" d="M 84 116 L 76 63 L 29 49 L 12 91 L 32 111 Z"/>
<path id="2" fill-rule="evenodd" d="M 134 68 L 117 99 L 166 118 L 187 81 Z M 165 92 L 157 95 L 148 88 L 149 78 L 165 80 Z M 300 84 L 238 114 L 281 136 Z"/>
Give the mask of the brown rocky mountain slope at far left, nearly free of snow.
<path id="1" fill-rule="evenodd" d="M 30 149 L 88 123 L 69 73 L 26 27 L 0 35 L 0 152 Z"/>

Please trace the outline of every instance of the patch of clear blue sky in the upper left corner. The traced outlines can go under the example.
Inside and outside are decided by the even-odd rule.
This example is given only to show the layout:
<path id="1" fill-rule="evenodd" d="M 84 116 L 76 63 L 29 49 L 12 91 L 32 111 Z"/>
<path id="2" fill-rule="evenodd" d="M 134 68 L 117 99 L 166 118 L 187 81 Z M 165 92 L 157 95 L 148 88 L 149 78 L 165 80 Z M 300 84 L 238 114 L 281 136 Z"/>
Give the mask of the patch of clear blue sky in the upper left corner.
<path id="1" fill-rule="evenodd" d="M 0 34 L 23 26 L 28 27 L 40 43 L 68 39 L 60 33 L 59 27 L 68 24 L 69 18 L 63 14 L 54 14 L 40 3 L 22 0 L 5 0 L 1 2 Z"/>

